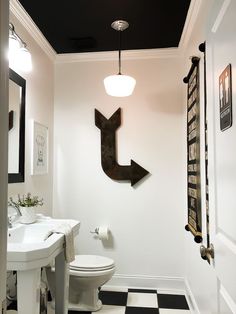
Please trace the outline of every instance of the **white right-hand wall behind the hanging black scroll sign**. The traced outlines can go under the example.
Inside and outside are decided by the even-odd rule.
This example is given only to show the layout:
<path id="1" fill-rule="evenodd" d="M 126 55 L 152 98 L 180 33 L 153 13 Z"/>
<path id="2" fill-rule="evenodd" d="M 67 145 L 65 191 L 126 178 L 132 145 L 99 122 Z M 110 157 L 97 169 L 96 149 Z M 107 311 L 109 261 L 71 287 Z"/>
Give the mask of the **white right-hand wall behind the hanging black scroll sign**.
<path id="1" fill-rule="evenodd" d="M 200 1 L 199 15 L 197 23 L 194 26 L 188 47 L 185 50 L 185 69 L 186 74 L 191 66 L 189 57 L 197 55 L 201 57 L 200 61 L 200 75 L 203 76 L 203 54 L 198 50 L 200 43 L 206 40 L 206 28 L 208 23 L 208 17 L 213 1 Z M 210 56 L 208 57 L 208 61 Z M 203 86 L 203 85 L 202 85 Z M 186 87 L 186 86 L 185 86 Z M 200 91 L 201 97 L 203 96 L 203 88 Z M 186 103 L 186 89 L 184 95 Z M 201 117 L 203 119 L 203 102 L 201 104 Z M 202 130 L 204 126 L 202 125 Z M 202 134 L 202 139 L 204 134 Z M 204 145 L 203 145 L 204 146 Z M 204 160 L 204 152 L 201 154 L 202 160 Z M 203 168 L 202 168 L 203 170 Z M 202 182 L 204 182 L 204 172 L 202 171 Z M 209 177 L 209 184 L 211 184 L 211 177 Z M 202 191 L 202 217 L 203 217 L 203 243 L 206 245 L 206 225 L 204 221 L 206 219 L 204 191 Z M 187 199 L 187 197 L 186 197 Z M 210 219 L 213 217 L 210 217 Z M 201 314 L 216 313 L 217 295 L 216 287 L 217 282 L 214 275 L 214 270 L 206 261 L 200 257 L 200 245 L 195 243 L 193 236 L 190 232 L 185 233 L 185 253 L 186 253 L 186 283 L 192 293 L 193 302 L 195 303 L 196 312 Z"/>

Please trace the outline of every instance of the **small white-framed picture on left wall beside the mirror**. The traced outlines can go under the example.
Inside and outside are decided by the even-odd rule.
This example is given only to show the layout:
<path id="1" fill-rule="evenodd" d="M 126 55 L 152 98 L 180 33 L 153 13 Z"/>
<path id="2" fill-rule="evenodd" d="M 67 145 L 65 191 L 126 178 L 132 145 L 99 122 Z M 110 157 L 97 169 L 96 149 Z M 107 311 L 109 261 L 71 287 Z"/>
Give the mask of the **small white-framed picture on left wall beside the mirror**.
<path id="1" fill-rule="evenodd" d="M 32 120 L 31 175 L 48 173 L 48 127 Z"/>

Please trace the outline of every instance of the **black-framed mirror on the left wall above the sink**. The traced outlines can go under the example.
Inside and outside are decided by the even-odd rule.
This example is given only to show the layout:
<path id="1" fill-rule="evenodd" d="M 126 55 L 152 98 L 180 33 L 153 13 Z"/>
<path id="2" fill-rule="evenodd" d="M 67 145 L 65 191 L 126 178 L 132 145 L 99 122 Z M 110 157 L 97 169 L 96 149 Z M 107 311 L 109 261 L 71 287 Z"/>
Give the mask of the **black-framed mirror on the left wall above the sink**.
<path id="1" fill-rule="evenodd" d="M 25 180 L 26 81 L 9 69 L 8 183 Z"/>

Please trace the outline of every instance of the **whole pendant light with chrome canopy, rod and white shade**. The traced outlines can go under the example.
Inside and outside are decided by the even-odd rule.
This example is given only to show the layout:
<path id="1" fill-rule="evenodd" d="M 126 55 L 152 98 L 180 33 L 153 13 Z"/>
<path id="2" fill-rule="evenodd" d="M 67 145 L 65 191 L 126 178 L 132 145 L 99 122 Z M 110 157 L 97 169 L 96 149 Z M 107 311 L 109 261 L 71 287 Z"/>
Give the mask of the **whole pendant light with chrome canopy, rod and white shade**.
<path id="1" fill-rule="evenodd" d="M 119 73 L 107 76 L 104 79 L 106 93 L 115 97 L 127 97 L 133 93 L 136 80 L 128 75 L 121 74 L 121 32 L 129 27 L 123 20 L 114 21 L 111 27 L 119 32 Z"/>

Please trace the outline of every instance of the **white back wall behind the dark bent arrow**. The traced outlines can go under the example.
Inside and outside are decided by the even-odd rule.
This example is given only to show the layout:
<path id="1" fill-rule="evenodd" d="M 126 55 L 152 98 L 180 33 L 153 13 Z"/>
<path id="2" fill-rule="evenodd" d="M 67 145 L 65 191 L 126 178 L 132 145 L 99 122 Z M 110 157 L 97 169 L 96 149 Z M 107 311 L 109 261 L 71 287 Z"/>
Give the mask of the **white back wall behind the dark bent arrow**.
<path id="1" fill-rule="evenodd" d="M 117 60 L 56 65 L 53 213 L 80 220 L 77 251 L 114 258 L 118 275 L 183 277 L 181 59 L 125 60 L 122 66 L 137 80 L 134 94 L 123 99 L 106 95 L 103 87 L 104 77 L 116 73 Z M 134 188 L 111 180 L 101 168 L 94 109 L 108 118 L 119 107 L 118 161 L 127 165 L 132 158 L 151 173 Z M 100 225 L 112 232 L 106 247 L 90 234 Z"/>

